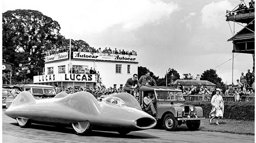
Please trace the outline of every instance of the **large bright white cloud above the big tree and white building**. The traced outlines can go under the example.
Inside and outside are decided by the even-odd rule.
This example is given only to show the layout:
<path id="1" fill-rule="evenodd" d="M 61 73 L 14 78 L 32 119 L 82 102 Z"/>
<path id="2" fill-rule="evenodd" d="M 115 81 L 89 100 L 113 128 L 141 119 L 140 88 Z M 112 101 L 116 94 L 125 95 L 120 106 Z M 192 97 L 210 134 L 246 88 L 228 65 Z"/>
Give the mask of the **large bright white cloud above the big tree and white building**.
<path id="1" fill-rule="evenodd" d="M 14 9 L 38 10 L 59 22 L 61 32 L 69 36 L 70 25 L 75 34 L 100 33 L 112 26 L 130 31 L 147 23 L 159 25 L 179 7 L 160 0 L 4 0 L 3 12 Z"/>

